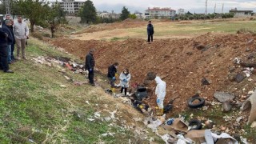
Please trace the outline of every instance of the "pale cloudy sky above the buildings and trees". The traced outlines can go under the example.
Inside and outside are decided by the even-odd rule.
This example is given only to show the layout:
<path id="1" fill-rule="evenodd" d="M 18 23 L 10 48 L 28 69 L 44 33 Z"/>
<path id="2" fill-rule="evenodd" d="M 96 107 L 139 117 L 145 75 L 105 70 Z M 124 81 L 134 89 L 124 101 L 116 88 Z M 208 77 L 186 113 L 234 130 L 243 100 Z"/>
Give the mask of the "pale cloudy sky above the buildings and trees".
<path id="1" fill-rule="evenodd" d="M 75 0 L 85 1 L 85 0 Z M 148 7 L 170 7 L 173 10 L 179 8 L 191 13 L 205 13 L 206 0 L 91 0 L 98 11 L 106 10 L 120 13 L 122 7 L 126 6 L 131 13 L 135 10 L 144 13 Z M 238 10 L 254 10 L 256 12 L 256 0 L 208 0 L 208 13 L 214 12 L 216 3 L 216 13 L 224 12 L 237 7 Z"/>

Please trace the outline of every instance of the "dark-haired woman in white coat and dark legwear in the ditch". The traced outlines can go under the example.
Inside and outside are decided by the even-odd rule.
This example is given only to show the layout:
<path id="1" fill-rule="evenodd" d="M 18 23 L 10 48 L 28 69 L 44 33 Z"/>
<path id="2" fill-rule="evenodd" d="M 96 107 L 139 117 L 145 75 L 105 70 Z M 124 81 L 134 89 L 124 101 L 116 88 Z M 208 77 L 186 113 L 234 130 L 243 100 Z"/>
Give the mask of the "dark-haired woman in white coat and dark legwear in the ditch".
<path id="1" fill-rule="evenodd" d="M 122 86 L 121 88 L 121 93 L 123 90 L 125 90 L 125 95 L 127 94 L 127 88 L 129 87 L 129 82 L 130 82 L 130 73 L 129 70 L 123 70 L 123 72 L 119 76 L 120 79 L 120 85 Z"/>

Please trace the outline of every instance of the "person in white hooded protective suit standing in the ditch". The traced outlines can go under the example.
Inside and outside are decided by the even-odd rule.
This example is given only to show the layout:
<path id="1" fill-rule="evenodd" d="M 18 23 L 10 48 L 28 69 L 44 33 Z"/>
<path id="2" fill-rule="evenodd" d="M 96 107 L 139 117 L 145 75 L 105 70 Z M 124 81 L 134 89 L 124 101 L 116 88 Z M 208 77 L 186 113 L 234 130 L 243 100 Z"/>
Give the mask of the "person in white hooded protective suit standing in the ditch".
<path id="1" fill-rule="evenodd" d="M 155 89 L 155 94 L 157 95 L 157 104 L 158 104 L 158 108 L 159 108 L 159 113 L 158 115 L 162 115 L 163 114 L 163 101 L 166 97 L 166 82 L 162 81 L 161 78 L 156 77 L 155 82 L 157 82 L 157 87 Z"/>

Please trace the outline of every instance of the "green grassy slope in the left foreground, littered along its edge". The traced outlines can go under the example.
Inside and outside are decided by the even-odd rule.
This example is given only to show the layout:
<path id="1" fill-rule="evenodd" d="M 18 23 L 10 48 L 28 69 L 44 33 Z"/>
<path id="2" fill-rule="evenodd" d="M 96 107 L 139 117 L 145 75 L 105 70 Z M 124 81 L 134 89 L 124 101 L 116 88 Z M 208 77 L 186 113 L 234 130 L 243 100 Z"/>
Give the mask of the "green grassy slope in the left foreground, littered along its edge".
<path id="1" fill-rule="evenodd" d="M 0 72 L 1 143 L 147 142 L 135 137 L 131 130 L 123 129 L 118 122 L 114 122 L 112 126 L 112 121 L 94 118 L 96 111 L 101 116 L 109 116 L 107 111 L 116 110 L 118 105 L 118 115 L 126 118 L 129 114 L 122 103 L 113 105 L 118 103 L 117 100 L 105 94 L 102 88 L 75 86 L 58 72 L 57 67 L 41 65 L 31 60 L 38 56 L 72 56 L 54 50 L 34 38 L 29 43 L 29 60 L 12 64 L 10 68 L 14 70 L 14 74 Z M 75 80 L 85 80 L 82 74 L 70 71 L 67 74 Z M 67 87 L 62 88 L 61 85 Z M 136 112 L 132 113 L 136 116 Z M 95 121 L 90 122 L 87 118 L 94 118 Z M 126 120 L 132 121 L 132 118 Z M 102 134 L 106 133 L 114 133 L 114 136 L 103 137 Z M 150 137 L 155 136 L 151 134 Z M 155 140 L 161 142 L 158 138 Z"/>

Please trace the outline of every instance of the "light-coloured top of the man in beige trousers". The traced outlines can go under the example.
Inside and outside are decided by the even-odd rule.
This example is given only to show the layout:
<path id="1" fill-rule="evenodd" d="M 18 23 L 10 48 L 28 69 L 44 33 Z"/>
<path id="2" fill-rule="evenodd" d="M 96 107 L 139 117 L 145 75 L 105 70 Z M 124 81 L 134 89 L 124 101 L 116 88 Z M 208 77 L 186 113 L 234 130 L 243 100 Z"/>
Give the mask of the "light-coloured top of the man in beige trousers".
<path id="1" fill-rule="evenodd" d="M 22 22 L 22 23 L 15 22 L 14 23 L 15 38 L 24 39 L 27 36 L 29 36 L 29 34 L 30 34 L 30 32 L 29 32 L 28 26 L 26 25 L 26 22 Z"/>

